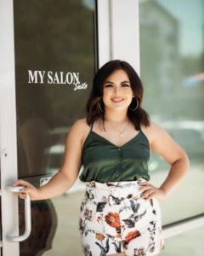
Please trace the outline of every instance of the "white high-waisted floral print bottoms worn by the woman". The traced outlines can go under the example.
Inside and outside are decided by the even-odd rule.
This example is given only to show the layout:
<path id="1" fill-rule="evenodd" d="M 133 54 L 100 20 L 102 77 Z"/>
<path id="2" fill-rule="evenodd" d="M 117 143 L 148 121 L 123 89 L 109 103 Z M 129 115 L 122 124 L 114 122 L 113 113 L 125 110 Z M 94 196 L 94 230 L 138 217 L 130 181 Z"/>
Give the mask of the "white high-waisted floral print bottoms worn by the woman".
<path id="1" fill-rule="evenodd" d="M 85 256 L 122 252 L 127 256 L 153 256 L 165 248 L 159 203 L 154 197 L 150 201 L 140 198 L 144 181 L 85 182 L 79 213 Z"/>

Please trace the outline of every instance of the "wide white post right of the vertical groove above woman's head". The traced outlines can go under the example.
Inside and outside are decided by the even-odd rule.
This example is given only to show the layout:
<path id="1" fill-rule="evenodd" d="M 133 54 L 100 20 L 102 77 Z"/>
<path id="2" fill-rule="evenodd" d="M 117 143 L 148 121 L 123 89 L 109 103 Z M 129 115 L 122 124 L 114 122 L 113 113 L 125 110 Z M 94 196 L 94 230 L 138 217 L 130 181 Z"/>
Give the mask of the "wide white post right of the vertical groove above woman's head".
<path id="1" fill-rule="evenodd" d="M 111 0 L 112 59 L 127 61 L 139 74 L 139 1 Z"/>

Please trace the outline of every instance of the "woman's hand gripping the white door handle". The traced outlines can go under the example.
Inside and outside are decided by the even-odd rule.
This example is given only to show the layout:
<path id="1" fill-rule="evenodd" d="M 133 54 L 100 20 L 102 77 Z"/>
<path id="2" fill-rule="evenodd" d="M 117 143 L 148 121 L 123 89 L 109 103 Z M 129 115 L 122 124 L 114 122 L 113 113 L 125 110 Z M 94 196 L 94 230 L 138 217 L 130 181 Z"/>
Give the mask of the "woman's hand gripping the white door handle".
<path id="1" fill-rule="evenodd" d="M 40 190 L 34 187 L 31 183 L 28 183 L 25 180 L 17 180 L 13 184 L 13 187 L 19 187 L 19 186 L 26 187 L 22 192 L 15 192 L 17 195 L 19 195 L 21 199 L 26 198 L 27 194 L 25 192 L 27 192 L 30 195 L 31 201 L 40 200 L 40 195 L 41 195 Z"/>

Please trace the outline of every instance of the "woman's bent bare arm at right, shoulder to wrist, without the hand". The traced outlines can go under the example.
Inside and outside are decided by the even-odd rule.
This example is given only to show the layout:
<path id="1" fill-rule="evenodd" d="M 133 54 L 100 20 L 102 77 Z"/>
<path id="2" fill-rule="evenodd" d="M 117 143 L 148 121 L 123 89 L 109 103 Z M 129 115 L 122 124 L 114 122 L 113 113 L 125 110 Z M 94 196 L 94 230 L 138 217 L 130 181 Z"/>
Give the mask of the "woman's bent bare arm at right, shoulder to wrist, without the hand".
<path id="1" fill-rule="evenodd" d="M 172 166 L 166 180 L 161 184 L 161 189 L 165 192 L 165 197 L 170 195 L 174 189 L 181 183 L 185 173 L 190 168 L 190 160 L 184 149 L 176 143 L 172 137 L 153 122 L 150 122 L 152 139 L 150 148 L 152 148 L 156 154 L 167 161 Z"/>

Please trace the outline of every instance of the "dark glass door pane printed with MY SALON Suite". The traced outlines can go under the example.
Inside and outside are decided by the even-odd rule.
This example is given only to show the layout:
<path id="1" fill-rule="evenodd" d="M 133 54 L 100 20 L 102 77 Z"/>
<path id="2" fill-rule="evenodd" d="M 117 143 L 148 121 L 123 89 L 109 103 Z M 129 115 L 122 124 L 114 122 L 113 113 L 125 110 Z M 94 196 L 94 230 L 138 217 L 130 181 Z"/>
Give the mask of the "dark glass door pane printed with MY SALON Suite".
<path id="1" fill-rule="evenodd" d="M 86 117 L 95 73 L 94 9 L 94 0 L 14 1 L 18 177 L 37 188 L 59 172 L 67 133 Z M 65 195 L 31 201 L 31 235 L 20 242 L 20 256 L 82 254 L 83 189 L 77 179 Z M 19 204 L 21 235 L 24 200 Z"/>

